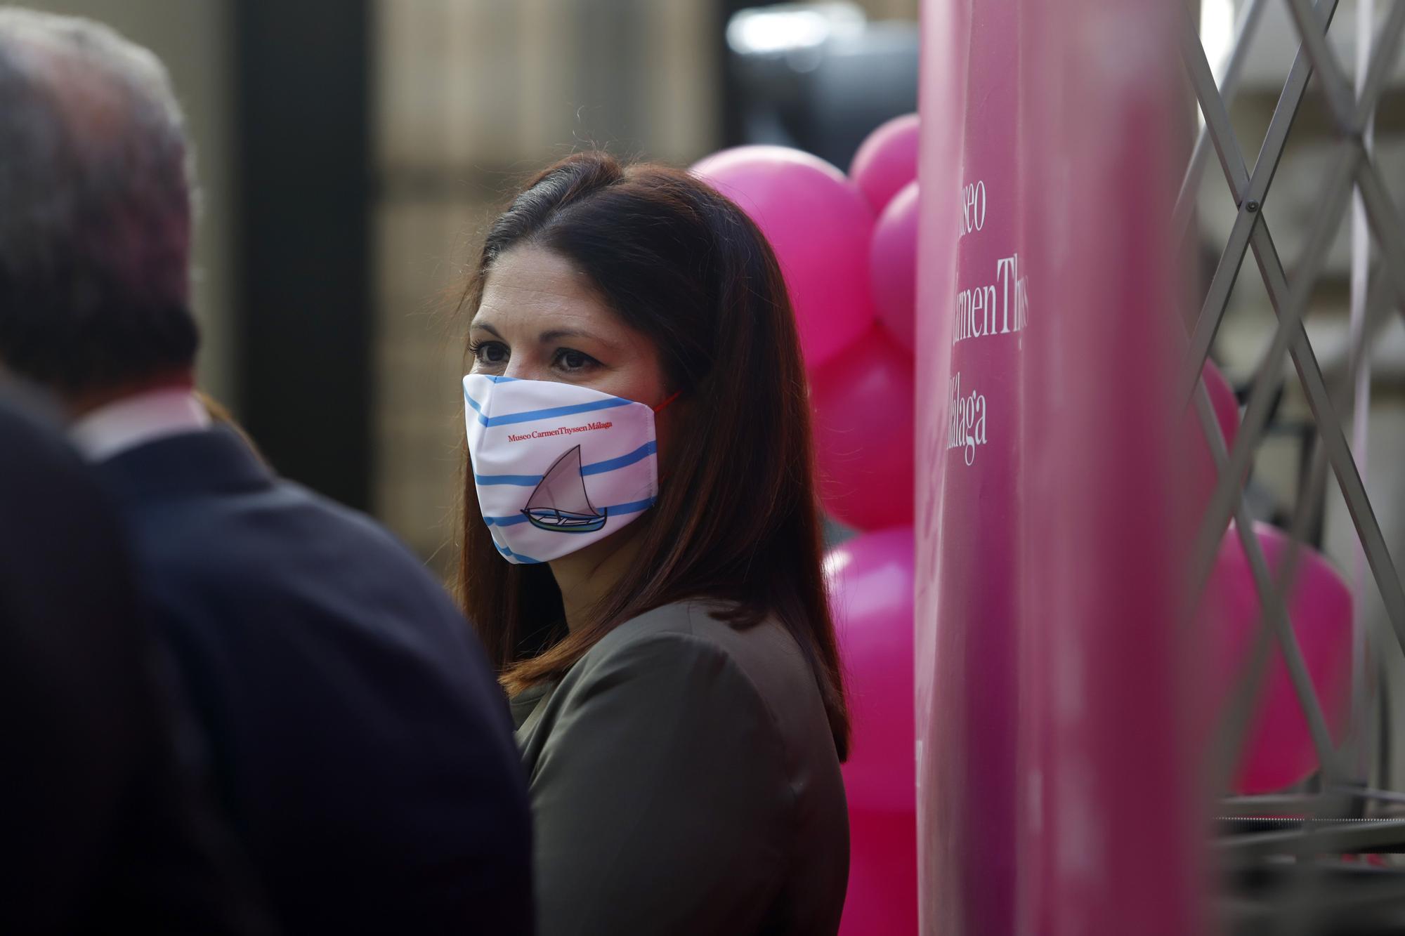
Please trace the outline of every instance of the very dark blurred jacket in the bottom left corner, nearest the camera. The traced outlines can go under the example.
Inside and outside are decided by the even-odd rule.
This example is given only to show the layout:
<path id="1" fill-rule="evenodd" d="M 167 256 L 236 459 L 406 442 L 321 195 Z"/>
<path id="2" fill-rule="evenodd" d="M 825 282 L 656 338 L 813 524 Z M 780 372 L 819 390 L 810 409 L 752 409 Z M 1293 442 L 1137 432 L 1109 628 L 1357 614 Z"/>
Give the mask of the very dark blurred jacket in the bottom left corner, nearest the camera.
<path id="1" fill-rule="evenodd" d="M 157 669 L 111 505 L 0 401 L 0 933 L 268 932 Z"/>

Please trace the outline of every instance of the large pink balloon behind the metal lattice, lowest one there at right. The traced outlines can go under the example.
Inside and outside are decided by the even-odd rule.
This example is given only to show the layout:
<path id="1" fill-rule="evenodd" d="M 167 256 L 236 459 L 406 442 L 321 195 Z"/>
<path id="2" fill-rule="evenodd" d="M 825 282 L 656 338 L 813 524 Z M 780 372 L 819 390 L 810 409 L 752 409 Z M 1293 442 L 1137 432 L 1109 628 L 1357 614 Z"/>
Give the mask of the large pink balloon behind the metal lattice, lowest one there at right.
<path id="1" fill-rule="evenodd" d="M 1270 572 L 1276 571 L 1288 548 L 1287 534 L 1264 523 L 1256 523 L 1253 533 Z M 1352 590 L 1331 562 L 1312 548 L 1301 547 L 1287 607 L 1328 729 L 1340 741 L 1350 704 Z M 1221 542 L 1203 609 L 1203 624 L 1211 628 L 1207 632 L 1211 706 L 1203 714 L 1203 736 L 1208 742 L 1234 686 L 1248 669 L 1255 628 L 1262 617 L 1249 559 L 1234 524 Z M 1269 669 L 1234 779 L 1234 790 L 1241 794 L 1283 790 L 1318 769 L 1316 750 L 1283 651 L 1276 639 L 1270 646 Z"/>

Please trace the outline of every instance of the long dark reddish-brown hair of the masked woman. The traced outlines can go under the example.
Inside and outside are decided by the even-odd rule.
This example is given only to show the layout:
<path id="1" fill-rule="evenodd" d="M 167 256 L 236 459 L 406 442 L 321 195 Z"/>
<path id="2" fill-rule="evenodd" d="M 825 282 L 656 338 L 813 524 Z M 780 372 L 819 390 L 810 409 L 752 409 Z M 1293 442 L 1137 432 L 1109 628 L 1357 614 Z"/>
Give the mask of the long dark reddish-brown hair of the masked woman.
<path id="1" fill-rule="evenodd" d="M 659 351 L 687 401 L 662 453 L 658 503 L 635 523 L 641 561 L 563 632 L 547 565 L 493 547 L 465 457 L 459 596 L 509 691 L 562 676 L 617 624 L 724 599 L 745 628 L 777 618 L 805 652 L 835 746 L 849 750 L 843 673 L 821 571 L 809 392 L 776 254 L 733 202 L 688 173 L 577 153 L 532 178 L 489 229 L 461 309 L 478 311 L 506 250 L 548 249 Z"/>

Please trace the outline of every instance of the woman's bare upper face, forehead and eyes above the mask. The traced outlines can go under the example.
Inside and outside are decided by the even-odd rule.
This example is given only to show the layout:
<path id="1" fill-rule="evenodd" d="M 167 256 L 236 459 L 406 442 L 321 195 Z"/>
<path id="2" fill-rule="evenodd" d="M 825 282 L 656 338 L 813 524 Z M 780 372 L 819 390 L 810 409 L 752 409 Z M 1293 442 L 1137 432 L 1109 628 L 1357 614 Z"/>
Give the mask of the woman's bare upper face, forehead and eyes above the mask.
<path id="1" fill-rule="evenodd" d="M 672 394 L 653 342 L 611 312 L 586 274 L 544 247 L 497 257 L 468 340 L 473 374 L 576 384 L 649 406 Z"/>

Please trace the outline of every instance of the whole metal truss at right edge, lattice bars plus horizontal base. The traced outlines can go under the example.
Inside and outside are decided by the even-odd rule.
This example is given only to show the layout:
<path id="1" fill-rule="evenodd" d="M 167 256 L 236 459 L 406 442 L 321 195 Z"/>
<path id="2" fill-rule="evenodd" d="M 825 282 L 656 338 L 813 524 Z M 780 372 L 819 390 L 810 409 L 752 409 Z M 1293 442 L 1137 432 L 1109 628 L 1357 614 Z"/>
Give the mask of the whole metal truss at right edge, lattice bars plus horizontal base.
<path id="1" fill-rule="evenodd" d="M 1294 637 L 1287 596 L 1291 592 L 1301 544 L 1319 520 L 1321 499 L 1298 505 L 1293 519 L 1293 541 L 1276 568 L 1269 566 L 1252 533 L 1243 505 L 1243 479 L 1264 438 L 1274 395 L 1284 379 L 1284 356 L 1291 357 L 1297 378 L 1312 413 L 1316 443 L 1302 490 L 1319 490 L 1331 469 L 1340 488 L 1361 554 L 1380 590 L 1390 631 L 1361 634 L 1373 652 L 1391 649 L 1387 641 L 1405 648 L 1405 590 L 1399 566 L 1387 548 L 1375 510 L 1367 496 L 1353 447 L 1349 441 L 1357 399 L 1359 370 L 1367 367 L 1366 351 L 1392 313 L 1405 309 L 1405 225 L 1387 191 L 1371 152 L 1371 119 L 1383 87 L 1395 65 L 1405 34 L 1405 0 L 1388 0 L 1384 25 L 1374 37 L 1368 65 L 1357 70 L 1353 83 L 1328 44 L 1326 34 L 1338 0 L 1273 0 L 1286 3 L 1300 41 L 1263 143 L 1250 166 L 1235 139 L 1229 107 L 1238 91 L 1249 45 L 1270 0 L 1249 0 L 1241 13 L 1234 49 L 1224 77 L 1217 84 L 1200 42 L 1194 17 L 1187 13 L 1180 31 L 1180 52 L 1186 74 L 1204 117 L 1198 139 L 1176 201 L 1175 236 L 1183 243 L 1194 223 L 1194 205 L 1210 152 L 1236 205 L 1236 216 L 1220 256 L 1198 319 L 1189 336 L 1189 349 L 1177 372 L 1177 399 L 1194 408 L 1218 467 L 1218 483 L 1201 519 L 1193 554 L 1193 586 L 1204 589 L 1215 551 L 1231 519 L 1249 559 L 1263 607 L 1245 676 L 1236 686 L 1220 724 L 1211 756 L 1217 791 L 1229 786 L 1239 750 L 1253 715 L 1270 651 L 1281 649 L 1287 670 L 1302 707 L 1319 770 L 1305 791 L 1224 797 L 1218 801 L 1215 854 L 1221 862 L 1225 890 L 1220 906 L 1228 932 L 1235 933 L 1388 933 L 1405 932 L 1405 869 L 1394 860 L 1364 859 L 1367 854 L 1405 852 L 1405 793 L 1373 788 L 1363 770 L 1370 753 L 1361 720 L 1368 707 L 1360 704 L 1368 690 L 1357 684 L 1353 724 L 1346 741 L 1336 743 L 1328 729 L 1324 707 L 1314 691 L 1308 669 Z M 1371 4 L 1361 3 L 1361 15 Z M 1360 53 L 1360 49 L 1359 49 Z M 1305 246 L 1295 266 L 1284 268 L 1279 259 L 1269 215 L 1276 170 L 1298 108 L 1315 76 L 1325 97 L 1335 132 L 1331 167 L 1318 188 L 1318 205 Z M 1353 322 L 1346 372 L 1333 381 L 1314 354 L 1304 316 L 1328 250 L 1347 212 L 1353 191 L 1360 197 L 1380 263 L 1368 290 L 1357 282 L 1359 306 Z M 1366 245 L 1356 243 L 1360 250 Z M 1227 447 L 1215 422 L 1201 370 L 1225 315 L 1243 260 L 1253 253 L 1255 264 L 1277 316 L 1273 339 L 1257 361 L 1248 391 L 1242 424 L 1234 446 Z M 1359 267 L 1366 270 L 1364 263 Z M 1359 453 L 1357 453 L 1359 454 Z M 1357 602 L 1360 602 L 1360 594 Z M 1359 616 L 1360 618 L 1360 616 Z M 1394 651 L 1391 651 L 1394 652 Z M 1367 673 L 1357 666 L 1353 680 Z M 1363 753 L 1364 752 L 1364 753 Z M 1380 752 L 1377 752 L 1380 753 Z M 1262 817 L 1283 817 L 1266 821 Z"/>

